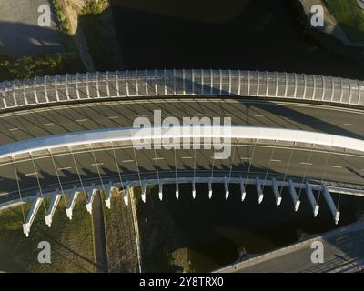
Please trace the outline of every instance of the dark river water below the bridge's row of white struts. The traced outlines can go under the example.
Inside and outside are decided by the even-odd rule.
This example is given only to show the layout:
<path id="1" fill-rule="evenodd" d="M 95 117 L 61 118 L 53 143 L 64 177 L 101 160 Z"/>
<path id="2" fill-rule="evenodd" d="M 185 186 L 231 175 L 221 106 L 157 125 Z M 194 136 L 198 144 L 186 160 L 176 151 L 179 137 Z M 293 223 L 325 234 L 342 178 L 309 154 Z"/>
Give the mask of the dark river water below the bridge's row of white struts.
<path id="1" fill-rule="evenodd" d="M 298 241 L 304 236 L 319 234 L 357 220 L 364 210 L 364 198 L 340 196 L 339 225 L 334 224 L 323 196 L 319 200 L 319 215 L 315 218 L 303 191 L 298 212 L 288 191 L 282 193 L 282 203 L 276 206 L 269 187 L 264 190 L 263 202 L 258 204 L 255 186 L 247 187 L 247 198 L 241 202 L 238 185 L 230 186 L 225 200 L 223 185 L 213 185 L 213 197 L 208 199 L 207 185 L 197 185 L 197 198 L 192 198 L 191 186 L 180 186 L 177 201 L 175 187 L 166 186 L 164 200 L 175 226 L 182 233 L 180 246 L 189 249 L 191 267 L 210 271 L 238 259 L 238 249 L 250 254 L 264 253 Z M 157 203 L 157 189 L 153 194 Z M 337 202 L 338 196 L 333 195 Z"/>

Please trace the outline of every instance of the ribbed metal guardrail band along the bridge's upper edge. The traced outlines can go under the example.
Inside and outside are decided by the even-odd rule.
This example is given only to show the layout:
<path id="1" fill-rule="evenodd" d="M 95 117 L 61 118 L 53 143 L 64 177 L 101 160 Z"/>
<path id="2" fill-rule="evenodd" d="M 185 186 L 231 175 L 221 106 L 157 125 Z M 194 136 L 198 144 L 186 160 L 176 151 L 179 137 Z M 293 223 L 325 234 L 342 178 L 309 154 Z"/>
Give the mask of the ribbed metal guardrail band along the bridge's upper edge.
<path id="1" fill-rule="evenodd" d="M 0 111 L 29 105 L 136 96 L 210 95 L 364 105 L 364 82 L 346 78 L 240 70 L 135 70 L 45 75 L 0 83 Z"/>

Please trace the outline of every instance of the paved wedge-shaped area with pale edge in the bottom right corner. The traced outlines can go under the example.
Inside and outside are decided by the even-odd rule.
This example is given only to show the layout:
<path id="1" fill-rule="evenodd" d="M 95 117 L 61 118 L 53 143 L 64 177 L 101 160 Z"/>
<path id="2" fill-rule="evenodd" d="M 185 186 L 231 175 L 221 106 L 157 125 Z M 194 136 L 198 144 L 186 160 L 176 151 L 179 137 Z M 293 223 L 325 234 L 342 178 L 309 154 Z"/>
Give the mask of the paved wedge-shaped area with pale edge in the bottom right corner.
<path id="1" fill-rule="evenodd" d="M 324 246 L 324 262 L 312 263 L 314 241 Z M 258 256 L 219 272 L 234 273 L 351 273 L 364 268 L 364 222 L 355 223 L 277 251 Z"/>

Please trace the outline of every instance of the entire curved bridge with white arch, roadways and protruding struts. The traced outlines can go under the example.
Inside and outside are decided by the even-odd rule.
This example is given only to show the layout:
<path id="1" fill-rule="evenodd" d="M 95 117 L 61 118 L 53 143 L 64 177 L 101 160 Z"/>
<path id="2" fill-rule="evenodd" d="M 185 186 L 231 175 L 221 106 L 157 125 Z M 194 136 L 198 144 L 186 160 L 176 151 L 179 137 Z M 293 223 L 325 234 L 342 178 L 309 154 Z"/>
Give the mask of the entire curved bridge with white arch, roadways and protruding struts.
<path id="1" fill-rule="evenodd" d="M 229 185 L 238 184 L 244 200 L 252 184 L 258 203 L 268 186 L 277 206 L 288 188 L 296 211 L 305 192 L 314 216 L 322 194 L 338 223 L 330 192 L 364 196 L 363 87 L 359 80 L 238 70 L 118 71 L 4 82 L 0 202 L 33 201 L 24 225 L 28 235 L 45 199 L 51 226 L 62 196 L 72 218 L 80 193 L 91 212 L 101 190 L 110 207 L 115 191 L 128 202 L 130 186 L 140 186 L 145 201 L 152 185 L 162 199 L 167 184 L 176 186 L 177 198 L 179 184 L 190 184 L 195 197 L 195 185 L 206 183 L 211 197 L 211 185 L 222 183 L 226 198 Z M 161 109 L 176 120 L 194 116 L 197 126 L 153 127 L 140 138 L 133 119 Z M 232 126 L 204 125 L 205 117 L 231 117 Z M 161 146 L 143 147 L 146 140 Z M 194 146 L 185 147 L 186 141 Z M 217 147 L 229 148 L 228 155 L 217 158 Z"/>

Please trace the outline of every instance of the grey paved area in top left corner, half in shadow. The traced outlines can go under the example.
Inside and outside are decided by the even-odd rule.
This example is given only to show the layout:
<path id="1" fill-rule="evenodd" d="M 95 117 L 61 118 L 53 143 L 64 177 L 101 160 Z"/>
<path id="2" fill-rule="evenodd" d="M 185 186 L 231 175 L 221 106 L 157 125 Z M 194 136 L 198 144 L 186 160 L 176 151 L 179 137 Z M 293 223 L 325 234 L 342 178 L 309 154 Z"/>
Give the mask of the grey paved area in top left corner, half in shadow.
<path id="1" fill-rule="evenodd" d="M 19 56 L 65 52 L 59 42 L 55 16 L 51 27 L 38 25 L 38 7 L 48 0 L 2 0 L 0 2 L 0 50 Z"/>

